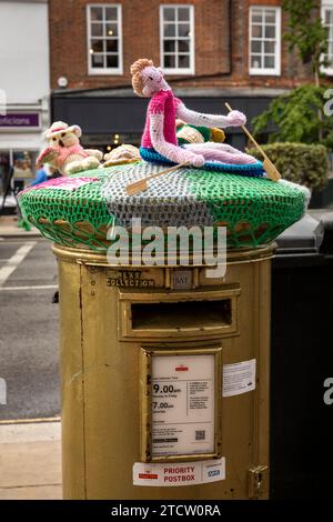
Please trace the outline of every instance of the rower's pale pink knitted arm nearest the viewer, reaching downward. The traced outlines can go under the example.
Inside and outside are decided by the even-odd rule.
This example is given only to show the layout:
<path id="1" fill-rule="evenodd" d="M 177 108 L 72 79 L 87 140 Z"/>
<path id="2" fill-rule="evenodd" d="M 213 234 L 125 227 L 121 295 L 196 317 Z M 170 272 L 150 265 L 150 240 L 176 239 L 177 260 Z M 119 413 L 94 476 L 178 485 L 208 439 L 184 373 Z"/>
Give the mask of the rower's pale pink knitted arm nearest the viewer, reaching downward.
<path id="1" fill-rule="evenodd" d="M 194 167 L 202 167 L 204 163 L 204 158 L 201 154 L 195 154 L 193 152 L 186 151 L 181 147 L 176 147 L 172 143 L 169 143 L 164 139 L 163 134 L 164 128 L 164 116 L 163 114 L 151 114 L 150 117 L 150 135 L 152 145 L 157 152 L 164 158 L 168 158 L 174 163 L 184 163 L 188 162 Z"/>

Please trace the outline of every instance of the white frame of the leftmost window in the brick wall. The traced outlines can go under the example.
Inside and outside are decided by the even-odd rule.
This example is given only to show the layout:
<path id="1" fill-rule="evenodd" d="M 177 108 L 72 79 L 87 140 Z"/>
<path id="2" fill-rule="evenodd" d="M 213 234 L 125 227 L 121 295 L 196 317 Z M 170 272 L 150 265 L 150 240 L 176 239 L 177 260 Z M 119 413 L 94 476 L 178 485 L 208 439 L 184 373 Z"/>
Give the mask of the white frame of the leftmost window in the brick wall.
<path id="1" fill-rule="evenodd" d="M 117 23 L 118 23 L 118 68 L 94 68 L 91 66 L 91 8 L 115 8 L 117 9 Z M 122 4 L 121 3 L 88 3 L 85 6 L 87 19 L 87 59 L 88 59 L 88 74 L 89 76 L 121 76 L 123 74 L 123 49 L 122 49 Z M 104 23 L 104 22 L 103 22 Z M 97 38 L 98 39 L 98 38 Z M 102 37 L 104 40 L 104 37 Z M 103 54 L 105 54 L 103 52 Z"/>

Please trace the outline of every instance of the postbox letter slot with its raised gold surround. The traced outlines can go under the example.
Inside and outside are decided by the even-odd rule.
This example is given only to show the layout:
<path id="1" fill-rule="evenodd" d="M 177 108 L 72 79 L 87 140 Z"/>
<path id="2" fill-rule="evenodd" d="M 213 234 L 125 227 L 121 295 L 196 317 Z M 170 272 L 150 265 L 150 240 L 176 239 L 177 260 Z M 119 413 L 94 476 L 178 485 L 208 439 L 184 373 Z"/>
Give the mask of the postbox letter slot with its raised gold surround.
<path id="1" fill-rule="evenodd" d="M 239 334 L 240 287 L 198 292 L 121 291 L 120 339 L 205 339 Z"/>

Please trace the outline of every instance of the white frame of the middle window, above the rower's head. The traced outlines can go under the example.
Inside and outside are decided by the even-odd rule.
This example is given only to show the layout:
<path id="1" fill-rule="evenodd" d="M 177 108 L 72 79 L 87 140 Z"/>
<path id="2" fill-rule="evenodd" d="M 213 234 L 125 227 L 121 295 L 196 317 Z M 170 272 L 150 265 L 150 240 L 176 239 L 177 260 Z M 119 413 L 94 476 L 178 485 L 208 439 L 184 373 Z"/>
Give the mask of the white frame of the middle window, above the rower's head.
<path id="1" fill-rule="evenodd" d="M 164 67 L 164 9 L 186 8 L 190 12 L 190 67 L 189 68 L 167 68 Z M 179 22 L 176 22 L 179 23 Z M 175 38 L 176 39 L 176 38 Z M 175 56 L 182 54 L 178 52 Z M 194 74 L 195 73 L 195 19 L 194 4 L 192 3 L 161 3 L 160 4 L 160 63 L 167 74 Z"/>

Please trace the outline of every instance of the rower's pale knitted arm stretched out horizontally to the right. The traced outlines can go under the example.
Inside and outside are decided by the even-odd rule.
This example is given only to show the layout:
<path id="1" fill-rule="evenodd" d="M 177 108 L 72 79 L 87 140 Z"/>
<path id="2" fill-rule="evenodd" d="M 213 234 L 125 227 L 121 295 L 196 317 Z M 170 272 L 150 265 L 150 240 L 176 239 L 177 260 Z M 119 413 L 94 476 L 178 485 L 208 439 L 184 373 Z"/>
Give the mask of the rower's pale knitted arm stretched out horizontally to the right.
<path id="1" fill-rule="evenodd" d="M 176 117 L 185 123 L 203 127 L 239 127 L 246 123 L 246 117 L 240 111 L 231 111 L 228 116 L 220 114 L 202 114 L 188 109 L 184 103 L 176 107 Z"/>

